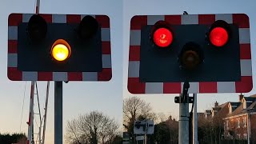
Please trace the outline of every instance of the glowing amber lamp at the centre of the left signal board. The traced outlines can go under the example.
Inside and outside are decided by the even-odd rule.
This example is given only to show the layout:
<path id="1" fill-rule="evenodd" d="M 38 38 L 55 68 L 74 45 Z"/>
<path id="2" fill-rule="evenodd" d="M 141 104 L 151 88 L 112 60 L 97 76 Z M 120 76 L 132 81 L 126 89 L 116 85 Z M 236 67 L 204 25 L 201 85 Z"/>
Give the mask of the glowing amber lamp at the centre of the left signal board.
<path id="1" fill-rule="evenodd" d="M 70 57 L 71 48 L 68 42 L 63 39 L 58 39 L 54 42 L 54 45 L 51 48 L 51 55 L 57 61 L 65 61 Z"/>

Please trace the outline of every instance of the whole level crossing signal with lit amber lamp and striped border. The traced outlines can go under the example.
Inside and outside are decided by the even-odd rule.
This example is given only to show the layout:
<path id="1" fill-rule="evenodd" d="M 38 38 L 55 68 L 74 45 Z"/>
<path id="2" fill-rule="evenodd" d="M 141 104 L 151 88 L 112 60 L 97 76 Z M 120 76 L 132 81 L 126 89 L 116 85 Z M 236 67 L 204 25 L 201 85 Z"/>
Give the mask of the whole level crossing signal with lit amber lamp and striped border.
<path id="1" fill-rule="evenodd" d="M 15 81 L 109 81 L 106 15 L 10 14 L 8 78 Z"/>

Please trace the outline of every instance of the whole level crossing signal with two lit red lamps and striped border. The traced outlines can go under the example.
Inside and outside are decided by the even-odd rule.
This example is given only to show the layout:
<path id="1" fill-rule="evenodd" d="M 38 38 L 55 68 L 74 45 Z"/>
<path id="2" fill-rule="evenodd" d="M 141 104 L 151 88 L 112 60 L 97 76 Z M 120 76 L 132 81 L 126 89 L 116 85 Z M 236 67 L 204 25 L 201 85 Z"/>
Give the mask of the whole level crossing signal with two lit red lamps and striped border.
<path id="1" fill-rule="evenodd" d="M 132 94 L 243 93 L 252 89 L 246 14 L 136 15 L 130 21 Z"/>

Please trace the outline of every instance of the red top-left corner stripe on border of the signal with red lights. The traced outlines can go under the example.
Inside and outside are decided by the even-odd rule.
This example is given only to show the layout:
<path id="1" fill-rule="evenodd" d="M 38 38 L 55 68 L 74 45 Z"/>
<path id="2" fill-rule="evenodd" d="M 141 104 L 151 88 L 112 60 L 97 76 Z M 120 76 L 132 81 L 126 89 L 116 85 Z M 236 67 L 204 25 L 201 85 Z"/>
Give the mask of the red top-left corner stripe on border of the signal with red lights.
<path id="1" fill-rule="evenodd" d="M 130 30 L 141 30 L 142 26 L 147 25 L 147 16 L 141 15 L 141 16 L 134 16 L 130 20 Z"/>

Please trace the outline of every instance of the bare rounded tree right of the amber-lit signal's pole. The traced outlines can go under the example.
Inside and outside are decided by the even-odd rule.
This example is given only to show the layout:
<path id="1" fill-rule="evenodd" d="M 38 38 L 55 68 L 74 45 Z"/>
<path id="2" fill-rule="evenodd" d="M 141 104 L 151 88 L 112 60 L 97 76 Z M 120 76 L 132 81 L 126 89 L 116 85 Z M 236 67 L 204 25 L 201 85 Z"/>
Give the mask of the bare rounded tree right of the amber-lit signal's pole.
<path id="1" fill-rule="evenodd" d="M 118 123 L 98 111 L 67 122 L 66 141 L 71 144 L 106 144 L 118 135 Z"/>

